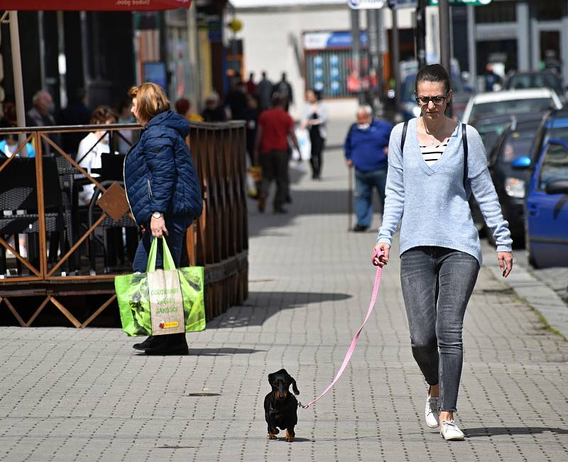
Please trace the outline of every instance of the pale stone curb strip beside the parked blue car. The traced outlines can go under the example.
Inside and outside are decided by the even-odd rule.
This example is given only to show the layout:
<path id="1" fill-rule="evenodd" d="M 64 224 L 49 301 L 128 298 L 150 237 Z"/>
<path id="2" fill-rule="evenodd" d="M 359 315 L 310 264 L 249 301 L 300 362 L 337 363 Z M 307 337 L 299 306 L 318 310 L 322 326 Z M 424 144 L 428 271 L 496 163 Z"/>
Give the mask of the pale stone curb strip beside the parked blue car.
<path id="1" fill-rule="evenodd" d="M 557 295 L 557 293 L 548 287 L 544 282 L 540 281 L 528 272 L 524 265 L 513 260 L 513 271 L 507 278 L 501 275 L 495 252 L 489 247 L 488 243 L 481 243 L 483 249 L 484 260 L 493 264 L 487 265 L 497 280 L 508 285 L 518 295 L 525 299 L 532 309 L 535 309 L 541 316 L 548 328 L 555 334 L 568 340 L 568 307 Z M 515 252 L 513 251 L 513 255 Z"/>

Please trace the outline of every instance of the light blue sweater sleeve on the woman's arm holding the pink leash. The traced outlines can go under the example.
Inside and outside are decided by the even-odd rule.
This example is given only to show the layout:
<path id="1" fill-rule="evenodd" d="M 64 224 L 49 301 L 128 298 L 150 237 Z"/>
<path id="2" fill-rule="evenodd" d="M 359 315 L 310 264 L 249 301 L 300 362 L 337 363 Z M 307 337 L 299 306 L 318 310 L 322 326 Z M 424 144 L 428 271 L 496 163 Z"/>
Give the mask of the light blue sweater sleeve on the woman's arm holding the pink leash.
<path id="1" fill-rule="evenodd" d="M 392 246 L 393 235 L 404 211 L 404 172 L 403 154 L 400 152 L 403 124 L 399 123 L 391 132 L 388 141 L 388 170 L 385 188 L 385 210 L 383 224 L 378 230 L 377 242 Z"/>

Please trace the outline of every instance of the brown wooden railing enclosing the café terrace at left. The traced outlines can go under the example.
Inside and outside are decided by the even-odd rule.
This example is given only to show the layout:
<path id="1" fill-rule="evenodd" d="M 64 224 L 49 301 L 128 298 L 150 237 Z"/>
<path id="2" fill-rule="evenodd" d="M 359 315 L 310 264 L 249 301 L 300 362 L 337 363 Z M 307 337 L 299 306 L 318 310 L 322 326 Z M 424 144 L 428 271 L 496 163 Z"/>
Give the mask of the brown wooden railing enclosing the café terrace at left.
<path id="1" fill-rule="evenodd" d="M 75 327 L 88 326 L 109 311 L 111 321 L 104 324 L 116 325 L 114 276 L 131 272 L 138 229 L 121 182 L 104 181 L 104 168 L 100 177 L 89 175 L 53 139 L 100 129 L 0 129 L 0 139 L 23 134 L 35 148 L 35 160 L 13 155 L 0 164 L 0 324 L 58 324 L 44 312 L 53 305 L 63 315 L 58 319 L 65 318 Z M 119 139 L 129 138 L 121 133 L 139 129 L 133 124 L 104 126 L 110 150 L 117 149 Z M 244 122 L 190 123 L 187 141 L 202 182 L 204 211 L 187 231 L 182 264 L 205 267 L 205 304 L 212 319 L 248 296 Z M 18 143 L 16 153 L 24 145 Z M 20 182 L 15 173 L 22 175 Z M 77 182 L 95 187 L 87 209 L 77 207 Z M 27 196 L 18 199 L 18 194 Z M 20 203 L 26 208 L 16 211 Z M 12 216 L 3 211 L 6 204 L 12 204 Z M 116 262 L 111 261 L 111 253 Z M 10 255 L 13 258 L 6 258 Z"/>

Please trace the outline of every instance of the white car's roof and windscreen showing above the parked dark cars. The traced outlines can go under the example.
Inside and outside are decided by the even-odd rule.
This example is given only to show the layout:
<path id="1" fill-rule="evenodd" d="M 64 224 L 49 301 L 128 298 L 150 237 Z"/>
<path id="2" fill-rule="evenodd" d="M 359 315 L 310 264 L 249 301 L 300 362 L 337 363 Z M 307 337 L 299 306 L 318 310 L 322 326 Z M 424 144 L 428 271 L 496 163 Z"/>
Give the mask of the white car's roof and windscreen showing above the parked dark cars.
<path id="1" fill-rule="evenodd" d="M 562 109 L 558 95 L 549 88 L 478 93 L 469 99 L 461 121 L 470 123 L 483 116 L 536 113 L 547 109 Z"/>

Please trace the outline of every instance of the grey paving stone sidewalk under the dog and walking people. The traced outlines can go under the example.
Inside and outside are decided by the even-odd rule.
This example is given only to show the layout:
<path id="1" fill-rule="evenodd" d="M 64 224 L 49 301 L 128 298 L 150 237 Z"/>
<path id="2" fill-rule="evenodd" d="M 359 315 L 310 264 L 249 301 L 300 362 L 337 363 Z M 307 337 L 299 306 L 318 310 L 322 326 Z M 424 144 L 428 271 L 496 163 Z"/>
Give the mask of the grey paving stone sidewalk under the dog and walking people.
<path id="1" fill-rule="evenodd" d="M 466 441 L 424 423 L 396 257 L 344 376 L 298 411 L 293 444 L 266 439 L 268 373 L 286 368 L 303 402 L 324 390 L 373 287 L 375 231 L 347 232 L 339 150 L 323 172 L 315 182 L 293 166 L 286 216 L 249 204 L 249 300 L 188 335 L 190 356 L 136 354 L 119 329 L 1 328 L 0 460 L 566 460 L 568 343 L 494 277 L 491 258 L 464 327 Z"/>

